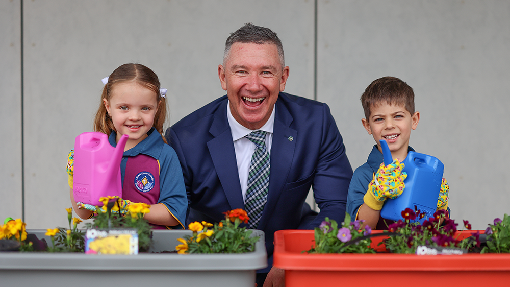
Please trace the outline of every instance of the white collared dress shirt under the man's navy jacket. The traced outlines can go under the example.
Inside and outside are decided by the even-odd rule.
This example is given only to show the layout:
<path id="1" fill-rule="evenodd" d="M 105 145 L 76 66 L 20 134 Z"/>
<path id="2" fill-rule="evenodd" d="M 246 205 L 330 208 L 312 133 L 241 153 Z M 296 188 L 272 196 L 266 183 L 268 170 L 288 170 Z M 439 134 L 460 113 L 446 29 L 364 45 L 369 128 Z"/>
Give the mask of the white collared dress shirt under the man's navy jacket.
<path id="1" fill-rule="evenodd" d="M 274 127 L 274 110 L 267 122 L 260 129 L 266 132 L 266 147 L 271 156 L 271 143 L 273 141 L 273 127 Z M 245 136 L 251 133 L 250 130 L 239 124 L 230 110 L 230 101 L 228 101 L 226 108 L 226 115 L 230 130 L 232 131 L 232 139 L 234 139 L 234 149 L 236 151 L 237 170 L 239 172 L 239 181 L 241 182 L 241 191 L 243 193 L 243 200 L 246 201 L 246 189 L 248 188 L 248 174 L 250 169 L 251 156 L 257 146 Z"/>

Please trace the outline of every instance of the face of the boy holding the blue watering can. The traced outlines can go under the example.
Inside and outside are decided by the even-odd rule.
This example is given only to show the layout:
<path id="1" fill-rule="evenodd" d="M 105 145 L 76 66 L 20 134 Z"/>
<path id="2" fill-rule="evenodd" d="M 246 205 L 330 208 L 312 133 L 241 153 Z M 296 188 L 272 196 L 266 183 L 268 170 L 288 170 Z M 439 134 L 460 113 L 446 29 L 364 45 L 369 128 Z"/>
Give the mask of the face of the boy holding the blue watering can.
<path id="1" fill-rule="evenodd" d="M 411 130 L 416 129 L 420 121 L 420 113 L 413 115 L 404 106 L 388 103 L 379 103 L 370 108 L 370 118 L 362 120 L 363 127 L 371 134 L 377 148 L 382 152 L 379 140 L 385 139 L 390 148 L 393 159 L 404 160 L 407 156 L 407 146 Z"/>

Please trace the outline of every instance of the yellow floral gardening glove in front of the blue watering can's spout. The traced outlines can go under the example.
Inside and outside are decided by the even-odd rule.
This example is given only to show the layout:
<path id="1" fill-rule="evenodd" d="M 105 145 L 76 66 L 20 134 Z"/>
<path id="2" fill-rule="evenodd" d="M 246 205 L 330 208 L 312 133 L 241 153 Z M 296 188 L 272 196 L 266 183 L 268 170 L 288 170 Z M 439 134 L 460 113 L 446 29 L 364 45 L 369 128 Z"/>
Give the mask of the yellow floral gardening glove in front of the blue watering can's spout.
<path id="1" fill-rule="evenodd" d="M 372 181 L 368 184 L 368 190 L 363 201 L 374 209 L 381 210 L 387 198 L 395 199 L 404 191 L 404 180 L 407 177 L 404 164 L 398 159 L 393 160 L 387 166 L 381 163 L 379 170 L 374 174 Z"/>

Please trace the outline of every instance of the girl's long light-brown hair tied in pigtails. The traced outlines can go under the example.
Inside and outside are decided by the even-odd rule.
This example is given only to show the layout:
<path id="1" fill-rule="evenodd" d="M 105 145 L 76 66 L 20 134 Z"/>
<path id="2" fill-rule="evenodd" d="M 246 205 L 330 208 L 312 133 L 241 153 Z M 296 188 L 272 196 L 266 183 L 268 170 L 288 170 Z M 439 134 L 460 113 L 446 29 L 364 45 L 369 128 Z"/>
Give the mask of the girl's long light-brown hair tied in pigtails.
<path id="1" fill-rule="evenodd" d="M 154 116 L 154 124 L 152 124 L 152 127 L 156 128 L 166 143 L 166 139 L 163 136 L 163 124 L 166 119 L 166 99 L 160 97 L 160 82 L 158 76 L 156 76 L 151 69 L 142 64 L 123 64 L 116 68 L 108 77 L 108 83 L 106 83 L 103 88 L 101 102 L 99 103 L 99 108 L 94 118 L 94 131 L 105 133 L 108 136 L 110 136 L 112 131 L 116 131 L 112 122 L 112 117 L 108 115 L 103 99 L 110 101 L 115 86 L 130 81 L 134 81 L 142 87 L 154 91 L 157 100 L 161 101 L 158 111 Z"/>

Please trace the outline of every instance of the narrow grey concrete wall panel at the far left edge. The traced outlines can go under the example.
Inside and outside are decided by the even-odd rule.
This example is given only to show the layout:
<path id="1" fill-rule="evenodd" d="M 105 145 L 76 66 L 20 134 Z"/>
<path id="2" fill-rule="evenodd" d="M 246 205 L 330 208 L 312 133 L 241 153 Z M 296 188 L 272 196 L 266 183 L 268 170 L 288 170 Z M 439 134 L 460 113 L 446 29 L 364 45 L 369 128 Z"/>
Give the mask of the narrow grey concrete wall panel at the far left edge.
<path id="1" fill-rule="evenodd" d="M 0 224 L 22 217 L 20 7 L 20 1 L 0 2 Z"/>

